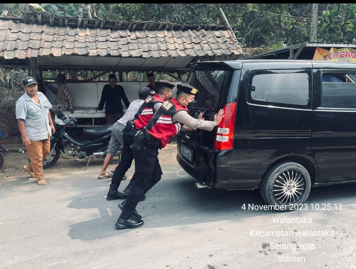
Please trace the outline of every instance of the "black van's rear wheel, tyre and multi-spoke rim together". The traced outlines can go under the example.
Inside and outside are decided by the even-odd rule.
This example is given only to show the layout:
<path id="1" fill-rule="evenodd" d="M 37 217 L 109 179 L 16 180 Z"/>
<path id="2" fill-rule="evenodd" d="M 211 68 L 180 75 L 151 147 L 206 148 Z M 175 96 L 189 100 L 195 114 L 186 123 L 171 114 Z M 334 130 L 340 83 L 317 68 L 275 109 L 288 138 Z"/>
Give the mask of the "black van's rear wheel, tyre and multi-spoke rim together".
<path id="1" fill-rule="evenodd" d="M 263 176 L 259 192 L 266 204 L 283 205 L 284 209 L 279 211 L 290 211 L 306 201 L 310 186 L 310 175 L 303 165 L 282 162 L 272 166 Z"/>

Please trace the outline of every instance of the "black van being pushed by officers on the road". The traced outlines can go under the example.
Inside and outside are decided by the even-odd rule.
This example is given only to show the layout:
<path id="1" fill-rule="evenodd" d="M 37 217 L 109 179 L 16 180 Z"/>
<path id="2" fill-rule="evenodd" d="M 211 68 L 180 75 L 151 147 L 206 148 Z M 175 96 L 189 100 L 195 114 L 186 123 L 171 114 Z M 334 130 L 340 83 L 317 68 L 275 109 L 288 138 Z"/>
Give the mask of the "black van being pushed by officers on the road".
<path id="1" fill-rule="evenodd" d="M 197 188 L 259 188 L 267 205 L 305 202 L 311 186 L 356 182 L 356 64 L 235 60 L 192 64 L 189 113 L 225 117 L 180 132 L 177 160 Z"/>

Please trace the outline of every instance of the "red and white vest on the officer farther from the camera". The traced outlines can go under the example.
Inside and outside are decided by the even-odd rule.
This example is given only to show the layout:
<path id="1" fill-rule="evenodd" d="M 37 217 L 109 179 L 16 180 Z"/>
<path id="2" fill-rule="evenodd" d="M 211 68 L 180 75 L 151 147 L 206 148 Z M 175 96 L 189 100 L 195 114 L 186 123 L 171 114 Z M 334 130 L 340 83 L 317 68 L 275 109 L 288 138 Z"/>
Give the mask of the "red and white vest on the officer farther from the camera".
<path id="1" fill-rule="evenodd" d="M 157 93 L 153 96 L 147 97 L 147 99 L 142 103 L 139 110 L 137 111 L 133 122 L 137 130 L 144 128 L 148 122 L 153 118 L 153 106 L 156 102 L 163 103 L 163 99 Z"/>

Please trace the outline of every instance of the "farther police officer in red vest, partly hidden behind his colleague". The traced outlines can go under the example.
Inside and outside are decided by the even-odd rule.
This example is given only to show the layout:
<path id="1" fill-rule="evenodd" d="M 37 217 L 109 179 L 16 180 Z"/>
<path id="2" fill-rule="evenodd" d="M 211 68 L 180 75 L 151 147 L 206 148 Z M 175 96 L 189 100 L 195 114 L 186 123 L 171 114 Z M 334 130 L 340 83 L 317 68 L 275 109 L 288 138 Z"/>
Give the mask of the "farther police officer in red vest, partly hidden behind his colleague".
<path id="1" fill-rule="evenodd" d="M 149 96 L 140 106 L 134 119 L 132 121 L 127 121 L 126 127 L 123 131 L 124 144 L 122 145 L 121 162 L 112 175 L 106 200 L 125 199 L 130 190 L 133 188 L 134 181 L 131 179 L 123 193 L 118 191 L 121 180 L 127 170 L 131 167 L 132 160 L 134 159 L 131 149 L 131 145 L 134 142 L 134 134 L 147 125 L 147 123 L 153 118 L 154 113 L 159 109 L 164 101 L 169 100 L 172 97 L 172 91 L 175 87 L 173 83 L 167 80 L 161 80 L 157 81 L 155 85 L 156 93 L 153 97 Z M 143 200 L 145 200 L 144 195 L 141 197 L 141 201 Z"/>

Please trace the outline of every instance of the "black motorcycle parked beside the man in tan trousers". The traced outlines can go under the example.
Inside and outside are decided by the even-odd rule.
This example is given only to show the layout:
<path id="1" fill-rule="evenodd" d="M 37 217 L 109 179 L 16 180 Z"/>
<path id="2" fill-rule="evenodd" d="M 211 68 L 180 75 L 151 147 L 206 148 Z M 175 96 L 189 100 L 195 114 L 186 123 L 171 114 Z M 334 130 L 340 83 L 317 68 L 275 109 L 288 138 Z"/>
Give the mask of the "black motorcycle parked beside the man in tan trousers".
<path id="1" fill-rule="evenodd" d="M 100 127 L 84 128 L 83 133 L 90 140 L 78 141 L 66 133 L 65 127 L 76 125 L 77 120 L 68 117 L 61 109 L 57 110 L 54 117 L 55 133 L 51 137 L 50 154 L 43 161 L 43 168 L 52 167 L 59 159 L 61 152 L 65 153 L 64 147 L 67 147 L 67 154 L 71 157 L 78 156 L 79 159 L 87 159 L 87 170 L 91 158 L 105 158 L 108 144 L 111 138 L 112 124 L 106 124 Z"/>

